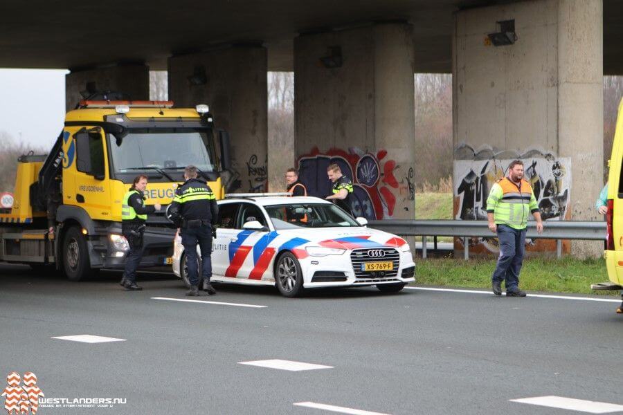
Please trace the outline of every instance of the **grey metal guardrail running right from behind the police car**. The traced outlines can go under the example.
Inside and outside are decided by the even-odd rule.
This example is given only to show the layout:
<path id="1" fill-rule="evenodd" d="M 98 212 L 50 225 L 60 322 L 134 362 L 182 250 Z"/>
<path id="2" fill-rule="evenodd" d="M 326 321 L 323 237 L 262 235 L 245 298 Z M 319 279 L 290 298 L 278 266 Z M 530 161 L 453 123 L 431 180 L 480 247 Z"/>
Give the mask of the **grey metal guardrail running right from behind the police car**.
<path id="1" fill-rule="evenodd" d="M 460 237 L 463 239 L 464 259 L 469 259 L 470 237 L 494 237 L 487 221 L 415 221 L 388 219 L 368 221 L 370 228 L 384 230 L 405 237 L 422 237 L 422 257 L 426 258 L 426 237 Z M 563 239 L 603 241 L 606 222 L 601 221 L 544 221 L 543 233 L 536 232 L 536 222 L 527 224 L 526 238 L 556 239 L 557 257 L 562 256 Z"/>

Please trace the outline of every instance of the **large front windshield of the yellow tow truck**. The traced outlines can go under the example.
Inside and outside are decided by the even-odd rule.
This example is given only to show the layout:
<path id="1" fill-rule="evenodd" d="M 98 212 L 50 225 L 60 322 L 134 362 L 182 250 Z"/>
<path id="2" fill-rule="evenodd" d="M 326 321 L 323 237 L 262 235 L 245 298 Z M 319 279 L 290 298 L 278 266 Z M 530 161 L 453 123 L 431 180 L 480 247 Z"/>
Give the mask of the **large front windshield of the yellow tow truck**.
<path id="1" fill-rule="evenodd" d="M 201 172 L 216 167 L 211 131 L 149 129 L 130 131 L 122 140 L 111 136 L 111 165 L 116 174 L 136 174 L 141 168 L 157 169 L 195 165 Z"/>

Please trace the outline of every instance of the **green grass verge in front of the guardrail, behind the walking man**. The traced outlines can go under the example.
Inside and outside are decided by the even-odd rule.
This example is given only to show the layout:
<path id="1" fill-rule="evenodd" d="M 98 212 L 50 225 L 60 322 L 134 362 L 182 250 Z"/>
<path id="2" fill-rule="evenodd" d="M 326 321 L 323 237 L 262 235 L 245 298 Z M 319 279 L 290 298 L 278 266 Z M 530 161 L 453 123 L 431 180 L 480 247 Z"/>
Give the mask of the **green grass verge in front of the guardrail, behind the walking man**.
<path id="1" fill-rule="evenodd" d="M 416 259 L 417 284 L 491 288 L 495 259 Z M 616 291 L 593 291 L 590 284 L 608 281 L 604 259 L 524 259 L 519 286 L 527 291 L 600 294 L 620 297 Z"/>

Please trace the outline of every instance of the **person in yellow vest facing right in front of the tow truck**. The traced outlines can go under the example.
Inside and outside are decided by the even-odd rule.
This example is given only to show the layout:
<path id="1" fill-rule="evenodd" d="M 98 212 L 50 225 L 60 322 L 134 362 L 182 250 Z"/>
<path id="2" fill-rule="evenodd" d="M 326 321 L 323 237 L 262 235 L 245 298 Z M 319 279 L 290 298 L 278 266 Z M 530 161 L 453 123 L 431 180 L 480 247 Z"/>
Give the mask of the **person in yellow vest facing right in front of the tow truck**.
<path id="1" fill-rule="evenodd" d="M 121 232 L 129 244 L 129 252 L 125 261 L 125 270 L 121 277 L 121 285 L 127 291 L 140 291 L 143 288 L 136 285 L 136 268 L 143 257 L 143 233 L 147 214 L 160 210 L 160 203 L 145 206 L 145 188 L 147 176 L 136 176 L 132 187 L 123 196 L 121 205 Z"/>

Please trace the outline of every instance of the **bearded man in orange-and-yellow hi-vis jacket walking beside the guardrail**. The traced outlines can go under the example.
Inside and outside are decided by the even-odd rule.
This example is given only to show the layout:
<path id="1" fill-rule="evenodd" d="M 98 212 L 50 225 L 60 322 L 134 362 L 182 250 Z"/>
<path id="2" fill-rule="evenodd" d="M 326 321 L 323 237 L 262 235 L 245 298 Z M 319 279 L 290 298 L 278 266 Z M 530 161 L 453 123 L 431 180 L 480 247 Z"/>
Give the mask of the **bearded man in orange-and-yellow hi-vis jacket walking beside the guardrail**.
<path id="1" fill-rule="evenodd" d="M 519 289 L 519 272 L 530 214 L 536 220 L 536 232 L 543 232 L 539 205 L 530 183 L 523 180 L 523 162 L 514 160 L 508 167 L 508 176 L 500 178 L 491 187 L 487 199 L 489 230 L 497 233 L 500 241 L 500 257 L 491 277 L 495 295 L 502 295 L 502 282 L 505 281 L 507 297 L 525 297 L 525 292 Z"/>

